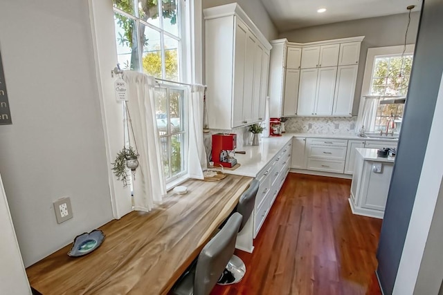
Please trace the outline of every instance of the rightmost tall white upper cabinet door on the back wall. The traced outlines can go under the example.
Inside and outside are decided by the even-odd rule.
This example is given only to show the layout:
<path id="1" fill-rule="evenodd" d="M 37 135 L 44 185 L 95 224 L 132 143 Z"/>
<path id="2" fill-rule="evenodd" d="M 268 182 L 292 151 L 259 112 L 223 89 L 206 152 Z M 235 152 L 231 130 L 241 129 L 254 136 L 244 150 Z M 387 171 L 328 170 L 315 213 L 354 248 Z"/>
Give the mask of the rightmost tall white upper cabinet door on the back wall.
<path id="1" fill-rule="evenodd" d="M 332 115 L 352 115 L 358 69 L 357 65 L 338 67 Z"/>

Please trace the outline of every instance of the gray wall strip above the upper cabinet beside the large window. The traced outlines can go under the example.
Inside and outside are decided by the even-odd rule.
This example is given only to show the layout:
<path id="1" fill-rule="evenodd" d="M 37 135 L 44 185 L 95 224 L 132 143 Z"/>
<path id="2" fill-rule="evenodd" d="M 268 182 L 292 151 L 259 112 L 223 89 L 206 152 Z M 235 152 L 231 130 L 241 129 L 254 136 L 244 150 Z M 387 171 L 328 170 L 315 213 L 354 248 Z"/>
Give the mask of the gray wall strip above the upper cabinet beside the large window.
<path id="1" fill-rule="evenodd" d="M 246 15 L 251 18 L 255 26 L 262 32 L 264 37 L 268 40 L 277 39 L 278 31 L 271 21 L 268 12 L 264 9 L 262 1 L 259 0 L 202 0 L 201 6 L 203 8 L 210 8 L 220 6 L 228 3 L 239 3 L 239 6 L 246 12 Z"/>

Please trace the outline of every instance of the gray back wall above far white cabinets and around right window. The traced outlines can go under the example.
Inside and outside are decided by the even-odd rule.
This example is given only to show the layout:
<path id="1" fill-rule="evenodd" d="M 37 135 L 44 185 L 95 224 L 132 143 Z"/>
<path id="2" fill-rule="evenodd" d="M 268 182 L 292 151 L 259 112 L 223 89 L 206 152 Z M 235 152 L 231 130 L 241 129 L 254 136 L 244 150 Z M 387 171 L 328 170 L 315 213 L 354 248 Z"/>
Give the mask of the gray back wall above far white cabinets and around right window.
<path id="1" fill-rule="evenodd" d="M 419 12 L 411 13 L 410 27 L 408 30 L 407 44 L 415 43 Z M 390 15 L 387 17 L 372 17 L 370 19 L 358 19 L 355 21 L 343 21 L 323 26 L 301 28 L 289 32 L 280 33 L 280 38 L 287 38 L 292 42 L 313 42 L 328 39 L 365 36 L 361 43 L 359 73 L 355 88 L 353 115 L 359 111 L 361 97 L 361 84 L 365 70 L 366 55 L 368 48 L 394 46 L 404 44 L 404 34 L 408 24 L 408 14 Z M 364 95 L 365 93 L 363 93 Z"/>

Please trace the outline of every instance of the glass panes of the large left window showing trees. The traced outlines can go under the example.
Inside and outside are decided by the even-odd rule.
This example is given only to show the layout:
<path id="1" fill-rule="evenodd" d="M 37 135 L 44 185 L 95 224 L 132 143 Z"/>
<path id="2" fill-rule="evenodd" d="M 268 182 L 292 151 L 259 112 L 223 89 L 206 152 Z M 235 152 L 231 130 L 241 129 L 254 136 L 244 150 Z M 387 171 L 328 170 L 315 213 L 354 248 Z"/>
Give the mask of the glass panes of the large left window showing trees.
<path id="1" fill-rule="evenodd" d="M 178 0 L 113 0 L 118 63 L 156 78 L 179 81 Z M 183 173 L 184 91 L 164 85 L 155 92 L 156 122 L 166 180 Z"/>

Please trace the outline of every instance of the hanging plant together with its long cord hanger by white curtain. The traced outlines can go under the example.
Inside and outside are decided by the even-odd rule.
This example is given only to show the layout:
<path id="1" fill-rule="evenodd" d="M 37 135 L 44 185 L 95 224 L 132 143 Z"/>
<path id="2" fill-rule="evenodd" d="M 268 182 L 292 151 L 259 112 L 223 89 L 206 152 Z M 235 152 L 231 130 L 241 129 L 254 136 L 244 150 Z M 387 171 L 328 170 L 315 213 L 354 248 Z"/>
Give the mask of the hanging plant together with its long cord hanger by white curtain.
<path id="1" fill-rule="evenodd" d="M 138 167 L 138 151 L 137 151 L 137 143 L 134 137 L 134 129 L 132 129 L 132 120 L 131 116 L 129 114 L 129 109 L 127 108 L 127 103 L 123 102 L 125 106 L 125 120 L 123 120 L 123 149 L 118 151 L 116 160 L 114 163 L 111 163 L 114 165 L 112 168 L 112 171 L 114 171 L 114 175 L 117 176 L 118 180 L 123 181 L 123 187 L 127 187 L 127 185 L 131 182 L 131 177 L 129 175 L 129 170 L 132 171 L 132 179 L 135 180 L 136 176 L 136 169 Z M 129 122 L 129 124 L 128 124 Z M 134 138 L 134 144 L 136 148 L 134 149 L 131 146 L 131 137 L 129 136 L 128 142 L 129 147 L 126 147 L 126 138 L 125 138 L 125 131 L 128 131 L 129 134 L 129 127 L 130 131 L 132 132 L 132 137 Z"/>

